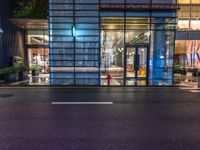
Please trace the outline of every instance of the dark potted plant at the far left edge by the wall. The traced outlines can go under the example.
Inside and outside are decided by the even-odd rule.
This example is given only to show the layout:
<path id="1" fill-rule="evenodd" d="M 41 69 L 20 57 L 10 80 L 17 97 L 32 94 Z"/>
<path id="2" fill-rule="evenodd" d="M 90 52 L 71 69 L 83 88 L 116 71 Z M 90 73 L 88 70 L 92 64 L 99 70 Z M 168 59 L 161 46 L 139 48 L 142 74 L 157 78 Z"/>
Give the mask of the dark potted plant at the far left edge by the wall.
<path id="1" fill-rule="evenodd" d="M 6 67 L 2 69 L 2 74 L 5 81 L 17 81 L 19 69 L 15 67 Z"/>

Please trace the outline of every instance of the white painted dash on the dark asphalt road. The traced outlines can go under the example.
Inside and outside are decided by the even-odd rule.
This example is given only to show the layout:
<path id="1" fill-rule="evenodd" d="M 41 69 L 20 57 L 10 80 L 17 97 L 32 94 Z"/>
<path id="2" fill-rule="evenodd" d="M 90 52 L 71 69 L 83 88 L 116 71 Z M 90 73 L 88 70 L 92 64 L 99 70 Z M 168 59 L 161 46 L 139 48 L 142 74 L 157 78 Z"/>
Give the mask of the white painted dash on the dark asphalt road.
<path id="1" fill-rule="evenodd" d="M 51 102 L 52 105 L 112 105 L 113 102 Z"/>

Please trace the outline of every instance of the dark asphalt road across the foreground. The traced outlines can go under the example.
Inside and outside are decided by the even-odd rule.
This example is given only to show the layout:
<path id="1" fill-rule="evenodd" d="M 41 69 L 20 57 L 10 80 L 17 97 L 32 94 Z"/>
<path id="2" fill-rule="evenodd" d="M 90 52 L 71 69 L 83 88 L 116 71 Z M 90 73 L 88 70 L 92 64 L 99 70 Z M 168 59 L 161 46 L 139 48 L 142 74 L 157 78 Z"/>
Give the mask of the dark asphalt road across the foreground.
<path id="1" fill-rule="evenodd" d="M 0 150 L 200 150 L 200 93 L 0 88 Z"/>

